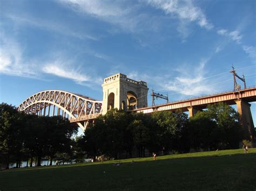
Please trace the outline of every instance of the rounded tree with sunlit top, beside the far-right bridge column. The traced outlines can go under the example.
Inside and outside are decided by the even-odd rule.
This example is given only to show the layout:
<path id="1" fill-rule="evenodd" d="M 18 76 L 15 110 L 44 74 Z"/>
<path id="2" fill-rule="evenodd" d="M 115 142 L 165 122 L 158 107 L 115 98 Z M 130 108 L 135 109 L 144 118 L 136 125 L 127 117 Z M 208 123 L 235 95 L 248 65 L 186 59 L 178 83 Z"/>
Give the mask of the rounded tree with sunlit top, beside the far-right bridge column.
<path id="1" fill-rule="evenodd" d="M 190 118 L 191 146 L 205 150 L 238 148 L 242 129 L 239 114 L 222 102 Z"/>

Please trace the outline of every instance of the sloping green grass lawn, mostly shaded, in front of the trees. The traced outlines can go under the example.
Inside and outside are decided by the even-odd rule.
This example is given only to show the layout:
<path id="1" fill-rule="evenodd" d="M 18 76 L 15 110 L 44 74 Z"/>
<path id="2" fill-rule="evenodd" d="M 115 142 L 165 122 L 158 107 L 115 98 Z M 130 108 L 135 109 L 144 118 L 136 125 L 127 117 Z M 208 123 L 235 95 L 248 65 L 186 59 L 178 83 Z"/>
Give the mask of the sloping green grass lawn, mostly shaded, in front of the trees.
<path id="1" fill-rule="evenodd" d="M 256 190 L 256 148 L 0 172 L 0 190 Z M 131 162 L 132 160 L 136 162 Z M 114 162 L 121 166 L 113 166 Z M 105 172 L 105 173 L 104 173 Z"/>

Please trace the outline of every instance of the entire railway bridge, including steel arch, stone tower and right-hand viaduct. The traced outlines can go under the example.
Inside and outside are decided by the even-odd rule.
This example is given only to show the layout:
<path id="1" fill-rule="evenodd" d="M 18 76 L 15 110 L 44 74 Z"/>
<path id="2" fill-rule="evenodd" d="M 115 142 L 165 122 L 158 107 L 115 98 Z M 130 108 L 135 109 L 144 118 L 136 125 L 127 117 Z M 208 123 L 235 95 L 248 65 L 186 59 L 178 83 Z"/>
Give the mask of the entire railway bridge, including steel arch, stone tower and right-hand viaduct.
<path id="1" fill-rule="evenodd" d="M 90 97 L 69 93 L 62 90 L 45 90 L 28 97 L 19 106 L 18 110 L 26 114 L 43 116 L 61 115 L 77 123 L 84 131 L 87 125 L 97 116 L 104 115 L 107 110 L 117 108 L 131 112 L 152 112 L 181 109 L 188 111 L 192 117 L 197 111 L 206 109 L 208 104 L 224 102 L 228 105 L 237 105 L 246 137 L 254 139 L 254 124 L 250 102 L 256 101 L 256 87 L 242 90 L 227 91 L 214 95 L 201 96 L 188 100 L 181 100 L 147 107 L 147 83 L 129 79 L 118 73 L 104 79 L 103 101 Z"/>

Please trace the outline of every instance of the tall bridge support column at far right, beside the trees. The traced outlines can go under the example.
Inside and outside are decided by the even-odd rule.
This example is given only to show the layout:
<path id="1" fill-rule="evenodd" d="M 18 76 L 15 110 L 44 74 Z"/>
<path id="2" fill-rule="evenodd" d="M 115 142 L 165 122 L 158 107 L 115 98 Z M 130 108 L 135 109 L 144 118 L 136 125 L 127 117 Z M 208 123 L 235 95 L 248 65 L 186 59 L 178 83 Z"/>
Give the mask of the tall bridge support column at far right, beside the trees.
<path id="1" fill-rule="evenodd" d="M 242 100 L 236 100 L 237 112 L 240 114 L 240 121 L 244 129 L 244 138 L 254 140 L 254 124 L 251 113 L 251 104 Z"/>

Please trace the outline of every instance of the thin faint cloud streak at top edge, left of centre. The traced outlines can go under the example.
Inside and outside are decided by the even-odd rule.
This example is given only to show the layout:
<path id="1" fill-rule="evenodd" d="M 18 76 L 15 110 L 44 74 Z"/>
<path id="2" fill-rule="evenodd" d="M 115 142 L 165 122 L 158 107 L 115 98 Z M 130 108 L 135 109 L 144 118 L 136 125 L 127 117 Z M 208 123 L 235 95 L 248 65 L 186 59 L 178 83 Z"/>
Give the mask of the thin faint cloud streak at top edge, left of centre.
<path id="1" fill-rule="evenodd" d="M 104 20 L 104 22 L 121 26 L 129 32 L 138 32 L 139 23 L 145 24 L 149 17 L 137 12 L 138 4 L 131 5 L 123 1 L 100 0 L 57 0 L 77 12 Z M 151 26 L 149 26 L 151 27 Z"/>

